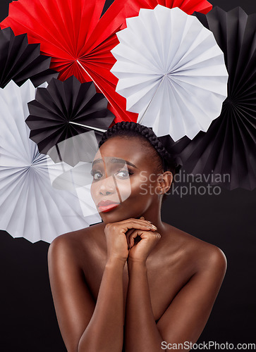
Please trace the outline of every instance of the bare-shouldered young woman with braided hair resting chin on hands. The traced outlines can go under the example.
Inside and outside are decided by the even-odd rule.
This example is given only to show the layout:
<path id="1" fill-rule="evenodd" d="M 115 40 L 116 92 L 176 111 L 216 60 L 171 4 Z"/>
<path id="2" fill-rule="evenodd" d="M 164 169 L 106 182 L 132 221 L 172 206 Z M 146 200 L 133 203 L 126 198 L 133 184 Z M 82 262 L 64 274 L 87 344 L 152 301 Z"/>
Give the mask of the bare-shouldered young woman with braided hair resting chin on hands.
<path id="1" fill-rule="evenodd" d="M 184 344 L 179 351 L 188 351 L 209 318 L 226 257 L 161 221 L 161 201 L 178 167 L 151 129 L 118 122 L 99 146 L 91 194 L 103 222 L 49 246 L 66 348 L 157 352 Z"/>

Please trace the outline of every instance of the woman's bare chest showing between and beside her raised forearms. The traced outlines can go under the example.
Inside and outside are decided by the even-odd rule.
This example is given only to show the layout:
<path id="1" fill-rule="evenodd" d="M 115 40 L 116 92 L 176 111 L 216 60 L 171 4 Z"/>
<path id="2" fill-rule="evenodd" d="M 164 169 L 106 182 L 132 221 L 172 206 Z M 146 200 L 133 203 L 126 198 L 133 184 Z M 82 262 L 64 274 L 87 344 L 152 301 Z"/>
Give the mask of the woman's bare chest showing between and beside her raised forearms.
<path id="1" fill-rule="evenodd" d="M 92 247 L 91 247 L 92 249 Z M 106 265 L 106 251 L 96 248 L 83 256 L 83 272 L 92 296 L 97 301 L 99 287 Z M 147 279 L 155 320 L 161 318 L 178 291 L 191 277 L 189 265 L 176 254 L 173 256 L 152 256 L 147 258 Z M 128 267 L 123 268 L 124 305 L 128 290 Z"/>

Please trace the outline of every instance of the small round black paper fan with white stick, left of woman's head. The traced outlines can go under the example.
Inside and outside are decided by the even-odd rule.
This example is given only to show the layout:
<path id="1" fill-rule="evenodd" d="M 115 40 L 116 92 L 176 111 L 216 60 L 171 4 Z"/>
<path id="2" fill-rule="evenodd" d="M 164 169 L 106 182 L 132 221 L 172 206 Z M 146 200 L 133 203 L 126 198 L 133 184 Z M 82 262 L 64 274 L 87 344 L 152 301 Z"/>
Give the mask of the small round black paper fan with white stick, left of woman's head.
<path id="1" fill-rule="evenodd" d="M 26 123 L 31 130 L 30 138 L 44 154 L 55 144 L 88 130 L 95 130 L 101 139 L 102 132 L 114 120 L 107 104 L 104 95 L 96 92 L 93 82 L 81 84 L 74 76 L 64 82 L 54 78 L 47 88 L 38 88 L 35 100 L 28 103 L 30 115 Z M 68 153 L 63 161 L 75 166 L 79 161 L 75 158 L 76 146 L 72 150 L 73 156 Z"/>

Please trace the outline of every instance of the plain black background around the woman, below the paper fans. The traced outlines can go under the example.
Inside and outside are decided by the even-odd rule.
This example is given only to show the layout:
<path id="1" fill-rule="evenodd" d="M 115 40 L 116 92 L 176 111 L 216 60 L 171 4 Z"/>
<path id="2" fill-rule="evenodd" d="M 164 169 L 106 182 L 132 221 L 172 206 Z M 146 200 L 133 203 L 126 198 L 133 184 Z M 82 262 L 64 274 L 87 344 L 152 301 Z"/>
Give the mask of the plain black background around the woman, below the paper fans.
<path id="1" fill-rule="evenodd" d="M 8 3 L 0 0 L 0 20 Z M 255 0 L 212 0 L 228 11 L 241 6 L 256 12 Z M 108 5 L 110 1 L 107 1 Z M 219 196 L 170 195 L 162 220 L 219 246 L 228 270 L 199 342 L 256 342 L 256 189 L 221 189 Z M 61 339 L 47 270 L 49 244 L 31 244 L 0 232 L 0 351 L 61 352 Z M 171 279 L 171 278 L 170 278 Z"/>

